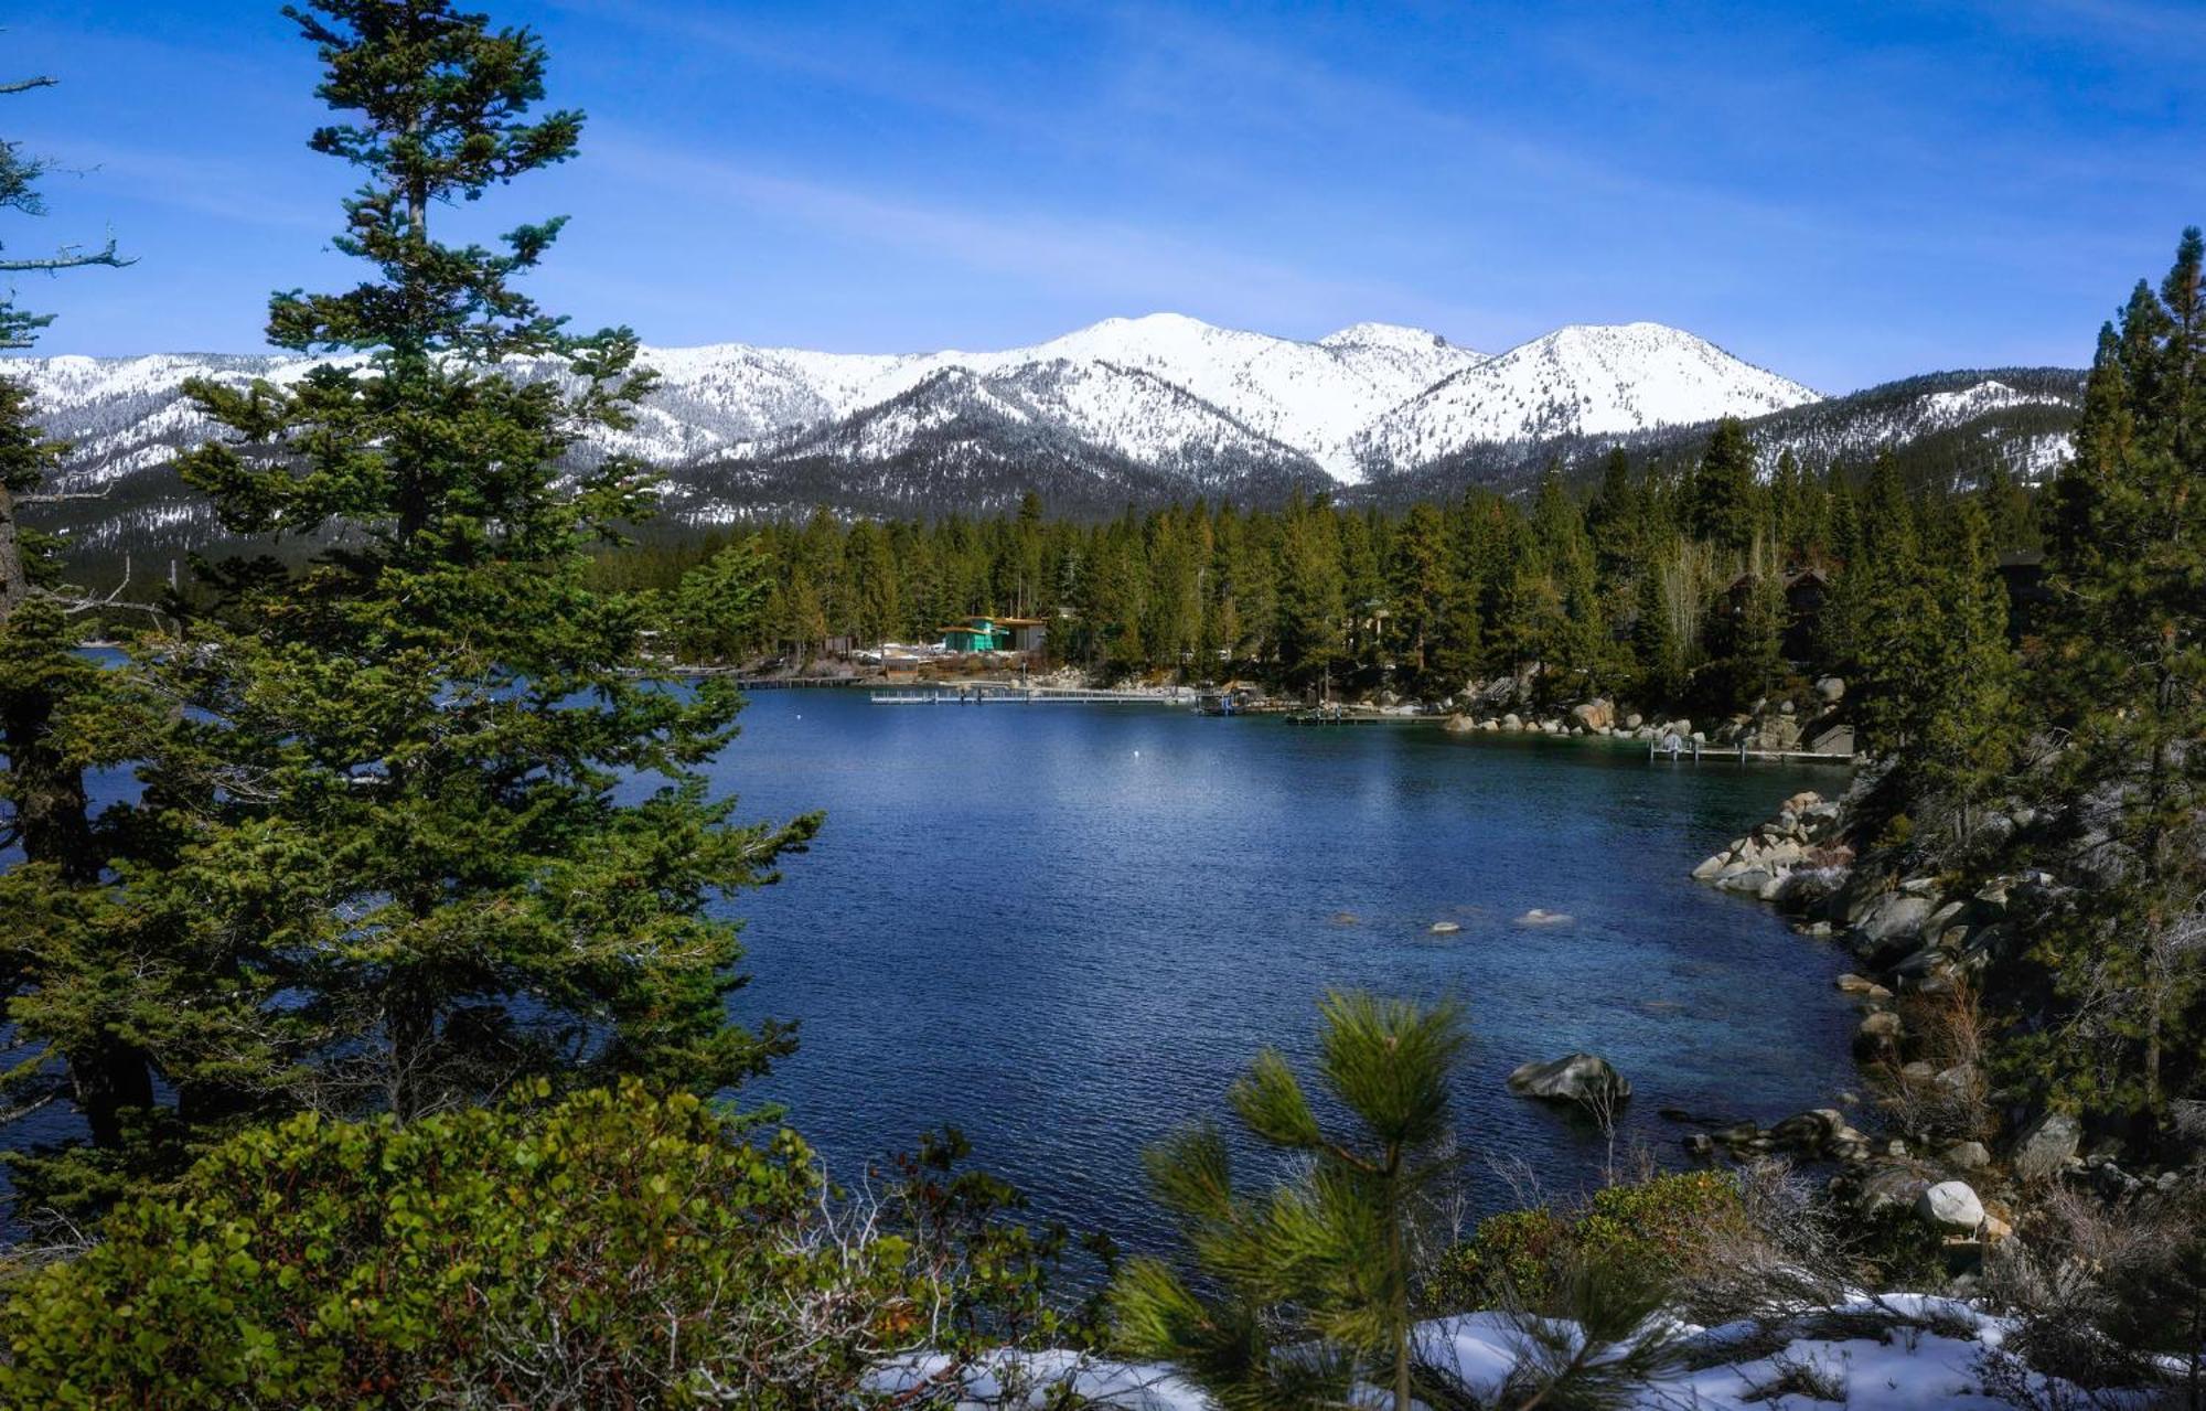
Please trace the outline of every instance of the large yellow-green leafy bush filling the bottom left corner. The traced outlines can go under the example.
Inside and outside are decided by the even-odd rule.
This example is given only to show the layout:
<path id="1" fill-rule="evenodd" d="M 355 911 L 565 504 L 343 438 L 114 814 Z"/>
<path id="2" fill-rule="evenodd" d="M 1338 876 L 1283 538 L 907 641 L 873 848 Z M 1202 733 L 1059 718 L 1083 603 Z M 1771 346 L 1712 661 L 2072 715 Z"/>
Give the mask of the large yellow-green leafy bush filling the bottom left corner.
<path id="1" fill-rule="evenodd" d="M 1015 1195 L 957 1155 L 931 1142 L 845 1224 L 794 1133 L 754 1144 L 633 1083 L 300 1116 L 24 1274 L 0 1404 L 810 1407 L 922 1340 L 1037 1327 L 1054 1243 L 997 1224 Z"/>

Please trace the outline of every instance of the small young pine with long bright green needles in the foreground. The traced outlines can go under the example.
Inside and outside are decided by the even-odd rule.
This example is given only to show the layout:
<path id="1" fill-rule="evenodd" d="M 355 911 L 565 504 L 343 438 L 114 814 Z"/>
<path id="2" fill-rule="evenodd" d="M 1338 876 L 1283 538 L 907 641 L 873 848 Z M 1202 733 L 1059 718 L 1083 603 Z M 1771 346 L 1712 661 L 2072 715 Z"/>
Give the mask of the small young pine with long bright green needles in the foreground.
<path id="1" fill-rule="evenodd" d="M 1368 1380 L 1407 1411 L 1416 1246 L 1454 1168 L 1463 1019 L 1361 992 L 1335 992 L 1319 1012 L 1317 1076 L 1346 1127 L 1321 1120 L 1286 1058 L 1264 1049 L 1229 1102 L 1253 1138 L 1306 1162 L 1302 1175 L 1268 1197 L 1238 1193 L 1216 1127 L 1154 1149 L 1149 1184 L 1191 1270 L 1136 1259 L 1112 1307 L 1134 1356 L 1176 1362 L 1227 1407 L 1339 1404 Z"/>

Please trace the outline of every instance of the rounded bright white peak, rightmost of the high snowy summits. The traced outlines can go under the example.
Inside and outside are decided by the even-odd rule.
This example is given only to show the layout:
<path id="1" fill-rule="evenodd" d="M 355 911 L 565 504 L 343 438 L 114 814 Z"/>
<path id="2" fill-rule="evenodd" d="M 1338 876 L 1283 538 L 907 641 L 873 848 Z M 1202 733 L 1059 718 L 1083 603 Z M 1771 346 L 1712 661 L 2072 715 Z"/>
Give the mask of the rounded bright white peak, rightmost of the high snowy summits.
<path id="1" fill-rule="evenodd" d="M 1573 324 L 1412 397 L 1357 437 L 1357 452 L 1414 467 L 1471 445 L 1760 417 L 1818 399 L 1681 328 Z"/>

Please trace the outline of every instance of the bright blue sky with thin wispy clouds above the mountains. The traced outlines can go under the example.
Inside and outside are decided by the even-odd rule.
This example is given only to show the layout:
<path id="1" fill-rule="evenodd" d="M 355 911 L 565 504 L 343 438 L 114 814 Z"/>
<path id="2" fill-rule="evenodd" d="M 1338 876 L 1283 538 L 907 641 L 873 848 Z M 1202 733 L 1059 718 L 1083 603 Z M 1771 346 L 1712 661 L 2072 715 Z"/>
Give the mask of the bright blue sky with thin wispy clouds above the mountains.
<path id="1" fill-rule="evenodd" d="M 1498 351 L 1661 320 L 1824 390 L 2082 364 L 2206 220 L 2206 4 L 472 0 L 543 33 L 582 157 L 534 280 L 649 342 L 990 348 L 1174 309 Z M 46 353 L 254 351 L 349 278 L 307 44 L 258 0 L 42 0 L 11 139 L 79 174 Z"/>

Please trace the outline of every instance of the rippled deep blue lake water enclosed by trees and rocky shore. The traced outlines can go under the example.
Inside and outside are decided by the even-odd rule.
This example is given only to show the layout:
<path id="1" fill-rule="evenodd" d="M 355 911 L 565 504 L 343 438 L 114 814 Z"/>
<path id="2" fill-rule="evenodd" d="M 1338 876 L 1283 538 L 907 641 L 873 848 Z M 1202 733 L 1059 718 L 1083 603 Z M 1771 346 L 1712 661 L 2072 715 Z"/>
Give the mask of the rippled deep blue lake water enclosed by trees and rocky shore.
<path id="1" fill-rule="evenodd" d="M 1328 985 L 1465 1001 L 1474 1208 L 1511 1202 L 1493 1157 L 1557 1191 L 1602 1160 L 1586 1122 L 1502 1089 L 1527 1058 L 1608 1056 L 1637 1087 L 1624 1142 L 1666 1160 L 1657 1107 L 1774 1120 L 1853 1078 L 1844 957 L 1685 880 L 1829 769 L 834 690 L 761 692 L 743 721 L 713 772 L 743 814 L 827 811 L 781 886 L 732 902 L 757 977 L 737 1010 L 803 1025 L 746 1096 L 843 1177 L 955 1122 L 1039 1210 L 1152 1243 L 1141 1146 L 1220 1116 L 1260 1045 L 1304 1056 Z"/>

